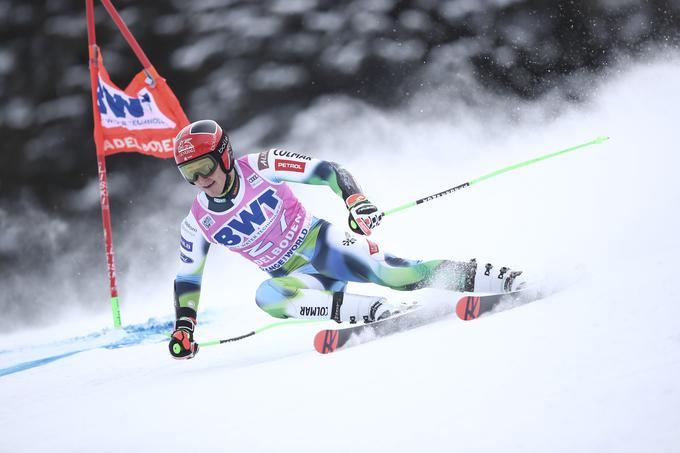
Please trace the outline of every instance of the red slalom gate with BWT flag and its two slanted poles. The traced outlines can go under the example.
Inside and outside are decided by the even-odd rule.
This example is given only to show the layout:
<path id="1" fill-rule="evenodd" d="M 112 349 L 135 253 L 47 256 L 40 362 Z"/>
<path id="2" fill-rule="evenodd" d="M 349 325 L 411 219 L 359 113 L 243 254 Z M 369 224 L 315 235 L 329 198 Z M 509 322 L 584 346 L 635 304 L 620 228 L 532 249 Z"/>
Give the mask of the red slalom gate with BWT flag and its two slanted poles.
<path id="1" fill-rule="evenodd" d="M 144 68 L 132 79 L 125 90 L 121 90 L 111 82 L 104 67 L 101 49 L 97 46 L 94 0 L 85 0 L 94 142 L 97 148 L 99 170 L 99 201 L 102 207 L 113 326 L 119 328 L 121 326 L 120 304 L 116 284 L 113 238 L 111 237 L 106 156 L 133 152 L 155 157 L 172 157 L 172 140 L 184 126 L 189 124 L 189 120 L 175 94 L 165 83 L 165 79 L 158 75 L 151 65 L 111 0 L 101 0 L 101 2 Z"/>

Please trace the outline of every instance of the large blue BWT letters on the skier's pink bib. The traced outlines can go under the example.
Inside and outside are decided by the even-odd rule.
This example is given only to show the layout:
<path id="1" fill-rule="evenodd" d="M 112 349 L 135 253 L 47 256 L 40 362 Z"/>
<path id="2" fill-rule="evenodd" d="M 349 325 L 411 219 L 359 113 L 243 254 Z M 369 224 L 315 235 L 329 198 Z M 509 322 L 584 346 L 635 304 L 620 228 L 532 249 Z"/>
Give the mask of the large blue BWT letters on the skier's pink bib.
<path id="1" fill-rule="evenodd" d="M 222 227 L 213 238 L 220 244 L 229 247 L 239 245 L 244 238 L 255 232 L 255 227 L 261 227 L 267 222 L 268 219 L 262 209 L 263 206 L 269 208 L 274 214 L 270 218 L 274 218 L 280 202 L 281 199 L 276 196 L 274 189 L 267 189 L 247 207 L 235 214 L 234 218 L 227 223 L 227 226 Z"/>

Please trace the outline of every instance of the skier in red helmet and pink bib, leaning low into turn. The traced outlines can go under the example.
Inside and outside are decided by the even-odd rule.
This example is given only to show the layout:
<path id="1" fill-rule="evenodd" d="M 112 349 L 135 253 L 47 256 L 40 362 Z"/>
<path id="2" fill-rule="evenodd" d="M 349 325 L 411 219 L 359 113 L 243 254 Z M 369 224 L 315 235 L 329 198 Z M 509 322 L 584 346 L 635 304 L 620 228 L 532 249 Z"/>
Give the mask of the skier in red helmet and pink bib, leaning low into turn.
<path id="1" fill-rule="evenodd" d="M 272 149 L 234 159 L 229 137 L 214 121 L 183 128 L 174 142 L 184 178 L 201 192 L 182 221 L 175 279 L 175 330 L 170 353 L 189 359 L 201 278 L 208 248 L 223 245 L 270 276 L 255 293 L 257 305 L 276 318 L 373 322 L 395 307 L 382 297 L 345 292 L 348 282 L 395 290 L 443 288 L 507 292 L 521 272 L 478 268 L 475 260 L 418 261 L 398 258 L 370 241 L 382 212 L 350 173 L 333 162 Z M 342 197 L 352 233 L 314 217 L 287 182 L 324 185 Z"/>

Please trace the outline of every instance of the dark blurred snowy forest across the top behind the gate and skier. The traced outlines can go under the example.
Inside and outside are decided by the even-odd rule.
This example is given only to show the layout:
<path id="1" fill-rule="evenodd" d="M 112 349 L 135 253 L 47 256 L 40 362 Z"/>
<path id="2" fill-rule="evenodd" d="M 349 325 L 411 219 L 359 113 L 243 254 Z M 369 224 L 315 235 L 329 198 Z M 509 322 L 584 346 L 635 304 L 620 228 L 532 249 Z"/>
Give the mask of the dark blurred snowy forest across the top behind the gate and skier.
<path id="1" fill-rule="evenodd" d="M 97 2 L 95 2 L 97 3 Z M 472 65 L 489 90 L 536 98 L 564 75 L 622 53 L 676 46 L 680 0 L 116 0 L 190 119 L 228 129 L 272 115 L 269 137 L 315 98 L 344 93 L 390 108 Z M 124 87 L 140 66 L 97 5 L 105 64 Z M 96 173 L 85 2 L 0 2 L 0 197 L 45 206 Z M 457 46 L 457 48 L 455 48 Z M 452 52 L 456 50 L 456 52 Z M 452 55 L 457 61 L 451 61 Z M 579 90 L 564 87 L 578 100 Z M 116 156 L 143 171 L 151 158 Z"/>

